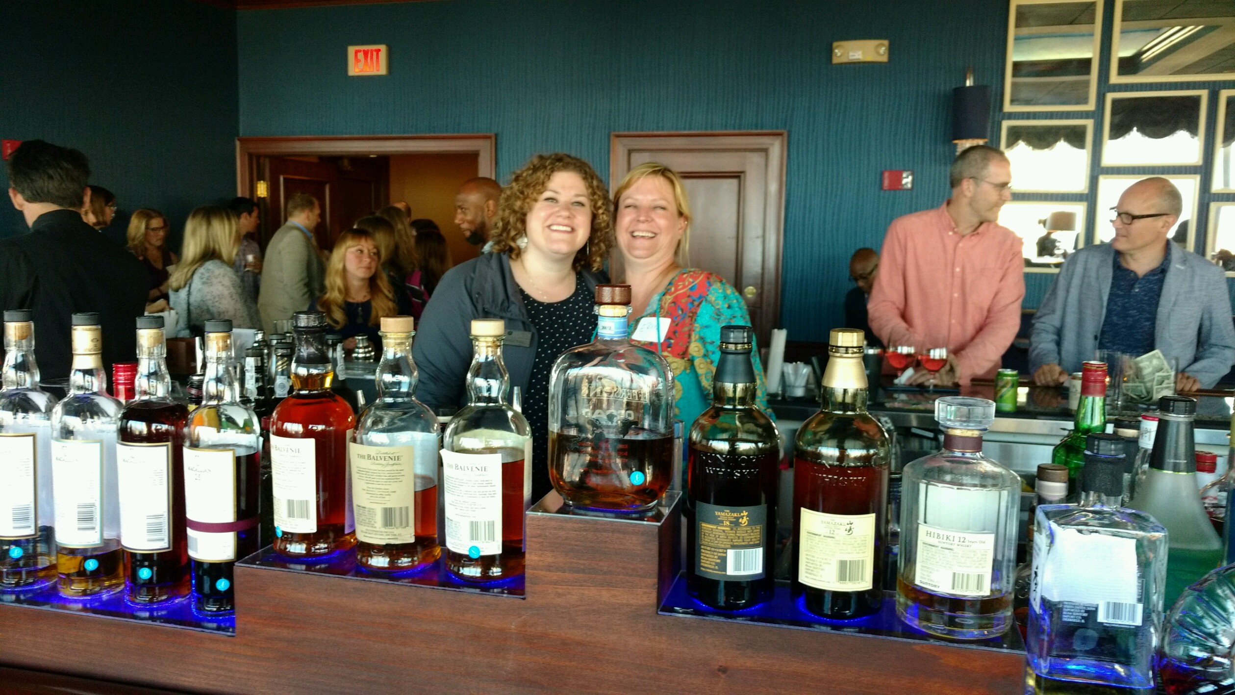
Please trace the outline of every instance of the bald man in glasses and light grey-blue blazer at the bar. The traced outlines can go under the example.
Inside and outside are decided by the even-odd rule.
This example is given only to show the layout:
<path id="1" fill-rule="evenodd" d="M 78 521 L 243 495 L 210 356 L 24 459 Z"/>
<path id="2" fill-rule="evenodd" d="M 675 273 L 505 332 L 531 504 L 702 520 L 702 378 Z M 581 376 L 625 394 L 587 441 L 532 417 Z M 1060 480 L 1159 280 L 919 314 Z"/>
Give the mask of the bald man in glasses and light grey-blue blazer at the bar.
<path id="1" fill-rule="evenodd" d="M 1115 238 L 1068 258 L 1034 317 L 1029 368 L 1057 385 L 1094 351 L 1174 358 L 1176 390 L 1213 388 L 1235 363 L 1235 325 L 1223 269 L 1171 243 L 1183 211 L 1161 177 L 1132 184 L 1114 207 Z"/>

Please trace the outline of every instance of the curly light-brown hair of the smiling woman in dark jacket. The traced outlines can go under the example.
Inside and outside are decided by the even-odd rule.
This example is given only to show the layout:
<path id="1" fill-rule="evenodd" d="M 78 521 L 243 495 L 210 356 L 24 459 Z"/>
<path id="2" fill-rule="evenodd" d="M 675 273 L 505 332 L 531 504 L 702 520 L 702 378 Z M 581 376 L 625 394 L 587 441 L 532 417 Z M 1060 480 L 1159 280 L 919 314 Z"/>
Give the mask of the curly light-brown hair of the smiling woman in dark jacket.
<path id="1" fill-rule="evenodd" d="M 588 188 L 588 201 L 592 204 L 592 231 L 588 243 L 574 254 L 574 269 L 588 267 L 600 270 L 614 244 L 613 205 L 604 181 L 592 165 L 569 154 L 537 154 L 510 178 L 510 185 L 501 189 L 501 199 L 498 201 L 498 215 L 493 223 L 493 252 L 509 253 L 511 259 L 519 258 L 522 252 L 519 241 L 527 235 L 527 212 L 545 193 L 550 178 L 558 172 L 579 174 Z"/>

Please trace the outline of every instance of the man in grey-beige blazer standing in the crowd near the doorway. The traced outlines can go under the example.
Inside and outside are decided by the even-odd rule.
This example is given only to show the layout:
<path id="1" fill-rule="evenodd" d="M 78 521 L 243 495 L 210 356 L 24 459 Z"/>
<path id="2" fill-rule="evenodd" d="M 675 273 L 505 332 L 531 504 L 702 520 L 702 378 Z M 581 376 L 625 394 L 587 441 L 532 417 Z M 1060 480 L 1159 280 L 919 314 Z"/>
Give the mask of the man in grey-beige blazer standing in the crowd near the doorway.
<path id="1" fill-rule="evenodd" d="M 321 221 L 321 204 L 306 193 L 298 193 L 288 200 L 287 215 L 287 223 L 266 247 L 262 267 L 257 307 L 267 335 L 274 332 L 275 321 L 308 310 L 326 290 L 326 269 L 312 236 Z"/>

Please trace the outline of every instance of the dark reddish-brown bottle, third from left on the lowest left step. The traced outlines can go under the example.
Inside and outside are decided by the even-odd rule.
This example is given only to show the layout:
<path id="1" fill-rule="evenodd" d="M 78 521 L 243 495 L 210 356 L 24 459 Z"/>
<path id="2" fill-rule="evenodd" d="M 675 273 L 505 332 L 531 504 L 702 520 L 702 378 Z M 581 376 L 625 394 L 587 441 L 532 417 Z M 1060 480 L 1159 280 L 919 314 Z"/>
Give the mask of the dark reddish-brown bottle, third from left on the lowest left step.
<path id="1" fill-rule="evenodd" d="M 120 414 L 116 472 L 128 600 L 158 604 L 189 594 L 184 532 L 184 421 L 172 400 L 162 316 L 137 317 L 133 400 Z"/>

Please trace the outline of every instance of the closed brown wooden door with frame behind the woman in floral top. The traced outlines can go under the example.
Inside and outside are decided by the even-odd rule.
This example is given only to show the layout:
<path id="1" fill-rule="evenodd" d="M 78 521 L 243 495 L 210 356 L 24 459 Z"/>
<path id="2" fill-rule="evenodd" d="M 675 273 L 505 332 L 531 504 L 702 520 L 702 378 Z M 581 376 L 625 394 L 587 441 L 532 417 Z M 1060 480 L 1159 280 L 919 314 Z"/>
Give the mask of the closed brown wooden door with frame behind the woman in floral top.
<path id="1" fill-rule="evenodd" d="M 785 133 L 614 133 L 610 186 L 659 162 L 690 201 L 690 265 L 716 273 L 746 299 L 762 346 L 781 321 Z M 615 253 L 614 275 L 621 274 Z"/>

